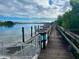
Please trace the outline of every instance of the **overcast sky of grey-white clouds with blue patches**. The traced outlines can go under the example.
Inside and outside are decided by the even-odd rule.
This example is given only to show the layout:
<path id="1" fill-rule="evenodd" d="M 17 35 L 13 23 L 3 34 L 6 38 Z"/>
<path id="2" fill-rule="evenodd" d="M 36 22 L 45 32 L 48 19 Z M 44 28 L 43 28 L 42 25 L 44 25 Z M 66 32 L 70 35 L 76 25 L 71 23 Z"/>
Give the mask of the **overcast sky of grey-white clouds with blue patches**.
<path id="1" fill-rule="evenodd" d="M 69 9 L 69 0 L 0 0 L 1 16 L 57 18 Z"/>

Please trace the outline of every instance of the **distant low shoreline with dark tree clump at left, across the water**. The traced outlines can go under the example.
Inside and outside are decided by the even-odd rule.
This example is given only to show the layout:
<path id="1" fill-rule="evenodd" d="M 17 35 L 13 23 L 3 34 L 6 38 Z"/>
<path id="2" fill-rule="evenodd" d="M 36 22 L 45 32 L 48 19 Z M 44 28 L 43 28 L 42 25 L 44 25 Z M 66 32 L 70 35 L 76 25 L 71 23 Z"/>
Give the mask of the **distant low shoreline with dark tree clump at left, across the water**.
<path id="1" fill-rule="evenodd" d="M 0 21 L 0 27 L 13 27 L 16 24 L 49 24 L 50 22 L 13 22 L 13 21 Z"/>

